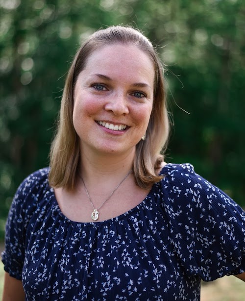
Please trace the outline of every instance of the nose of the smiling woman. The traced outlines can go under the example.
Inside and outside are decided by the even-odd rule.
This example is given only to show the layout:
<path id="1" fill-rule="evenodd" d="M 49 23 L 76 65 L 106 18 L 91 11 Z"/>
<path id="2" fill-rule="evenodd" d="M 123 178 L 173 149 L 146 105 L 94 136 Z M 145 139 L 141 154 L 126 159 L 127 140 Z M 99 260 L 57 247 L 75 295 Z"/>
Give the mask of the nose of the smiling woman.
<path id="1" fill-rule="evenodd" d="M 111 111 L 115 116 L 127 115 L 129 113 L 128 102 L 123 94 L 113 94 L 105 104 L 105 110 Z"/>

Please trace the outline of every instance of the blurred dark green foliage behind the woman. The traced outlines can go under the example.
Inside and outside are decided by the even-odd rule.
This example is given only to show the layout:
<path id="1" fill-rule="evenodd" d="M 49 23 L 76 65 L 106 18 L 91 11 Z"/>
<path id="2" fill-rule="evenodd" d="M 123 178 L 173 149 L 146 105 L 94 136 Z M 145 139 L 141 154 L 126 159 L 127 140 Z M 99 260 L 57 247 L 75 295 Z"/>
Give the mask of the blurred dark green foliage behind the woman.
<path id="1" fill-rule="evenodd" d="M 76 49 L 118 24 L 142 29 L 166 64 L 166 160 L 194 164 L 245 205 L 243 0 L 0 0 L 0 239 L 18 185 L 49 164 Z"/>

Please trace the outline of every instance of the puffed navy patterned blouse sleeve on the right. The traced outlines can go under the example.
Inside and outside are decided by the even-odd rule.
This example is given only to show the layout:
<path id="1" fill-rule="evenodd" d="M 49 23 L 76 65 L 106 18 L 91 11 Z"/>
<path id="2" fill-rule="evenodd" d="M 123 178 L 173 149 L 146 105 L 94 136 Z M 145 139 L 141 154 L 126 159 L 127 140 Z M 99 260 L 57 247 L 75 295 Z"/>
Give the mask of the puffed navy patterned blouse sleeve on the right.
<path id="1" fill-rule="evenodd" d="M 190 164 L 172 165 L 162 185 L 172 244 L 185 272 L 205 281 L 245 272 L 243 209 Z"/>

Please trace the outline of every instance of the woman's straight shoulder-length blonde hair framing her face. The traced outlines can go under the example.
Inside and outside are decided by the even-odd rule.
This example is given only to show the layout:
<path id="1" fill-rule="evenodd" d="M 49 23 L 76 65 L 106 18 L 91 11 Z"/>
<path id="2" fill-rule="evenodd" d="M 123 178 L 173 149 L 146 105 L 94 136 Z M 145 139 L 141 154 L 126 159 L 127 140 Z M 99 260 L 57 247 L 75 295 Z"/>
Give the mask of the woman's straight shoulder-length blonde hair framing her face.
<path id="1" fill-rule="evenodd" d="M 148 188 L 163 176 L 156 170 L 163 162 L 168 135 L 169 119 L 163 81 L 163 68 L 150 41 L 138 30 L 124 26 L 110 26 L 96 31 L 77 51 L 68 72 L 57 132 L 50 149 L 49 184 L 52 187 L 73 189 L 79 172 L 79 138 L 73 127 L 73 90 L 79 73 L 93 51 L 100 47 L 122 43 L 135 45 L 153 61 L 155 68 L 153 108 L 147 127 L 146 140 L 136 145 L 133 172 L 138 186 Z"/>

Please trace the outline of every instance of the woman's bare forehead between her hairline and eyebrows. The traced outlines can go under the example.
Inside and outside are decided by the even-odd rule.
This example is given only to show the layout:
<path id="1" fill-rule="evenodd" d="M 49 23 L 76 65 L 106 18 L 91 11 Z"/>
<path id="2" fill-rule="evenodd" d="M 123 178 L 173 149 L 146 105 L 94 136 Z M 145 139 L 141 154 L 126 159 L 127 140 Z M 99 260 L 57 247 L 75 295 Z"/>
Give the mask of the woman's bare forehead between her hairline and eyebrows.
<path id="1" fill-rule="evenodd" d="M 135 45 L 113 44 L 94 50 L 88 57 L 85 72 L 128 72 L 135 76 L 154 77 L 151 57 Z"/>

